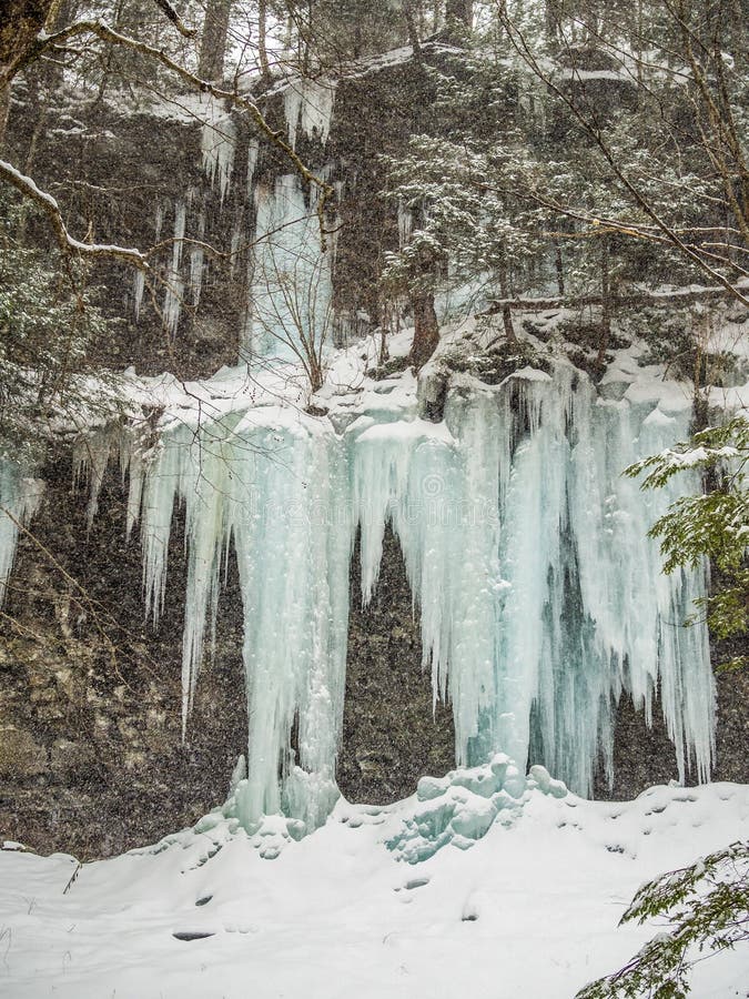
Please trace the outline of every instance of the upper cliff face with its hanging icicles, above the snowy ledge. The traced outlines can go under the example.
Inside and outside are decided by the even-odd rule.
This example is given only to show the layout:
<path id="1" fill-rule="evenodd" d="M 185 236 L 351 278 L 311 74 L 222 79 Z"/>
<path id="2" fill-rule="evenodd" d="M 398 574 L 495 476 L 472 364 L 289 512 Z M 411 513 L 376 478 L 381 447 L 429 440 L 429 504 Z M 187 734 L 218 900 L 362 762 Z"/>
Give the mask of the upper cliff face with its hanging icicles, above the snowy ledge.
<path id="1" fill-rule="evenodd" d="M 425 47 L 427 62 L 447 52 Z M 403 53 L 337 81 L 279 84 L 259 98 L 269 123 L 335 190 L 327 256 L 340 340 L 379 321 L 383 253 L 398 246 L 397 210 L 382 196 L 382 158 L 431 128 L 433 100 L 424 67 Z M 104 307 L 124 323 L 92 360 L 184 379 L 237 363 L 257 269 L 253 241 L 264 234 L 269 202 L 279 201 L 279 181 L 293 172 L 246 113 L 194 93 L 143 91 L 41 105 L 21 85 L 8 139 L 14 161 L 58 198 L 74 234 L 152 249 L 145 287 L 120 263 L 93 270 L 91 284 L 107 289 Z M 300 203 L 314 215 L 302 186 Z M 292 221 L 277 219 L 286 208 L 270 211 L 282 226 Z M 45 240 L 43 228 L 39 235 Z"/>

